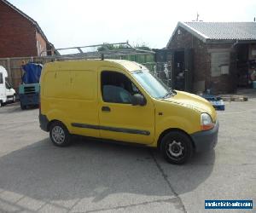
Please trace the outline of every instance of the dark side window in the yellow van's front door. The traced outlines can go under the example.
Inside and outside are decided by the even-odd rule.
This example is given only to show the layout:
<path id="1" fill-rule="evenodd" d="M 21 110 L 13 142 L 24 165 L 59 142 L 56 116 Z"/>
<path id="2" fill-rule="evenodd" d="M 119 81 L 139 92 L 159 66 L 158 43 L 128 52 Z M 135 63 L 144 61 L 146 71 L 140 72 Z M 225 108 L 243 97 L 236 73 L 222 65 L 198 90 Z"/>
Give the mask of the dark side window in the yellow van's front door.
<path id="1" fill-rule="evenodd" d="M 132 95 L 139 90 L 124 74 L 102 72 L 102 99 L 105 102 L 131 104 Z"/>

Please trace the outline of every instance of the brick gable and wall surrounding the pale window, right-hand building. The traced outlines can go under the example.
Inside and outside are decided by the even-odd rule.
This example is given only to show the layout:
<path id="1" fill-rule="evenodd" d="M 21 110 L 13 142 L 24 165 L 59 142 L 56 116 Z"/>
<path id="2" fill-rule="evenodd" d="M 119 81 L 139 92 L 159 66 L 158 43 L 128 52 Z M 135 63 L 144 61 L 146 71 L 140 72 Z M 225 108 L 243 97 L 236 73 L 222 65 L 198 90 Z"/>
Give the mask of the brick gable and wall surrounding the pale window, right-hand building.
<path id="1" fill-rule="evenodd" d="M 178 34 L 178 32 L 180 32 Z M 207 44 L 193 36 L 191 33 L 178 27 L 169 43 L 168 49 L 193 49 L 193 91 L 212 88 L 213 93 L 229 93 L 236 89 L 236 57 L 230 44 Z M 212 77 L 211 53 L 209 49 L 230 49 L 230 74 Z"/>

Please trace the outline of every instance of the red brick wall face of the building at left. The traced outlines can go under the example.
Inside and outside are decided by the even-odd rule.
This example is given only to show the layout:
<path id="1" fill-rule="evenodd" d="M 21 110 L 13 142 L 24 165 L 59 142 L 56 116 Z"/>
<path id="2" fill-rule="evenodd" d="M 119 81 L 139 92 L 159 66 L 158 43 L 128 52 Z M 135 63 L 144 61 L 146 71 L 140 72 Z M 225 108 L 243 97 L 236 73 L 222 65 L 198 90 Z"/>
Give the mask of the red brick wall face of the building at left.
<path id="1" fill-rule="evenodd" d="M 0 58 L 38 55 L 36 27 L 0 1 Z"/>

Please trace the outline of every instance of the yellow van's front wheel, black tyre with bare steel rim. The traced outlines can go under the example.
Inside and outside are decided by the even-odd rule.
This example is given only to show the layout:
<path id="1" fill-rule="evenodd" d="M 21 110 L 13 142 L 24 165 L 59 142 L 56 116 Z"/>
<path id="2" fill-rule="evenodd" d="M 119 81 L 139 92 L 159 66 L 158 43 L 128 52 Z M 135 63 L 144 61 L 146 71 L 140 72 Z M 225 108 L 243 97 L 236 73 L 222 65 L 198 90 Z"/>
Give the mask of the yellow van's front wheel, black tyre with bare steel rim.
<path id="1" fill-rule="evenodd" d="M 167 162 L 184 164 L 192 156 L 192 141 L 183 132 L 169 132 L 160 141 L 160 152 Z"/>

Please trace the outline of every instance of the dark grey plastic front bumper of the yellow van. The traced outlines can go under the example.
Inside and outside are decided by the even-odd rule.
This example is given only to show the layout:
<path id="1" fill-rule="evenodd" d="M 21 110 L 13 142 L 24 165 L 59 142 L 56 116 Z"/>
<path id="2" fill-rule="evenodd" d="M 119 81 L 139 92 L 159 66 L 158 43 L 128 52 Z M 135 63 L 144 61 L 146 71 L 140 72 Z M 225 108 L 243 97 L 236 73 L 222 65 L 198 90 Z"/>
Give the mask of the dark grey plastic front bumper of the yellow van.
<path id="1" fill-rule="evenodd" d="M 191 134 L 195 144 L 195 152 L 201 153 L 213 149 L 218 142 L 218 121 L 212 130 L 199 131 Z"/>

